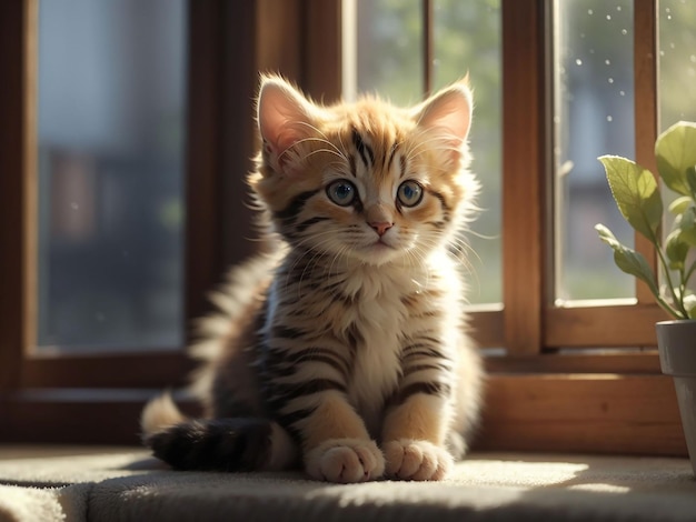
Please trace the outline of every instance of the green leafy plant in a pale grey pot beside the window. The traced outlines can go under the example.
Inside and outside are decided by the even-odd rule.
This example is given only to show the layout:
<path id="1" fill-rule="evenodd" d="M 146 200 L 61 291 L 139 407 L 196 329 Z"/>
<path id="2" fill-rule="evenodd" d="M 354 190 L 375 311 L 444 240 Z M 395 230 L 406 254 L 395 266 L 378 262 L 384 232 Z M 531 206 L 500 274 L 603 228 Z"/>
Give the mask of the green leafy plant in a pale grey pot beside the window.
<path id="1" fill-rule="evenodd" d="M 663 132 L 655 143 L 655 155 L 663 185 L 677 195 L 667 209 L 648 169 L 615 155 L 603 155 L 599 161 L 619 211 L 655 247 L 658 273 L 640 252 L 622 244 L 605 225 L 595 229 L 614 249 L 616 265 L 644 281 L 657 303 L 674 318 L 656 325 L 659 361 L 663 373 L 674 378 L 696 474 L 696 295 L 689 288 L 696 271 L 696 123 L 680 121 Z M 668 222 L 670 232 L 663 239 L 660 230 Z"/>

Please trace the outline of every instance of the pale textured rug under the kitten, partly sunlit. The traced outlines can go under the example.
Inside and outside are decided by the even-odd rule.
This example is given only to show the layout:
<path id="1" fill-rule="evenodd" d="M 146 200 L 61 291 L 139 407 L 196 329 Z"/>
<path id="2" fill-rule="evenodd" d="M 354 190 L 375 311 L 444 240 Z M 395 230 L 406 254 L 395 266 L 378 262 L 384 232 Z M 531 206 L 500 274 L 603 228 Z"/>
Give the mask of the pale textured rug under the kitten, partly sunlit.
<path id="1" fill-rule="evenodd" d="M 336 485 L 175 472 L 133 449 L 62 453 L 0 445 L 0 521 L 696 521 L 686 459 L 479 453 L 444 482 Z"/>

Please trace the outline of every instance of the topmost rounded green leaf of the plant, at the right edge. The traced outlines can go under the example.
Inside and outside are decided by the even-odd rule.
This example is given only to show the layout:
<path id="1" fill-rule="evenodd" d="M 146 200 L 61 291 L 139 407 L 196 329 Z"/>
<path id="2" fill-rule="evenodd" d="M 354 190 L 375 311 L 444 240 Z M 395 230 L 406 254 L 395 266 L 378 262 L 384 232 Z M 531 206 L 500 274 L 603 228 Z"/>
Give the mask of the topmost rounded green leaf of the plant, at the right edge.
<path id="1" fill-rule="evenodd" d="M 655 142 L 657 171 L 667 187 L 689 195 L 686 169 L 696 165 L 696 123 L 679 121 L 663 132 Z"/>

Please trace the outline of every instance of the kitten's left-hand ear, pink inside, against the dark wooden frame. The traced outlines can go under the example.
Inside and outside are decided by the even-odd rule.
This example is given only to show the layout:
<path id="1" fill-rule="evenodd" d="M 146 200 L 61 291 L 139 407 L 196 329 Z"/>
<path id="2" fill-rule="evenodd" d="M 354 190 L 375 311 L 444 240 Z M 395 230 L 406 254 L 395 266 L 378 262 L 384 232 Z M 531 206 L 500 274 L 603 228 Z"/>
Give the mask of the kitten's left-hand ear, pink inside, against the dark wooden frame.
<path id="1" fill-rule="evenodd" d="M 257 109 L 266 160 L 278 173 L 297 173 L 298 157 L 291 149 L 310 135 L 312 106 L 281 78 L 266 77 L 261 80 Z"/>

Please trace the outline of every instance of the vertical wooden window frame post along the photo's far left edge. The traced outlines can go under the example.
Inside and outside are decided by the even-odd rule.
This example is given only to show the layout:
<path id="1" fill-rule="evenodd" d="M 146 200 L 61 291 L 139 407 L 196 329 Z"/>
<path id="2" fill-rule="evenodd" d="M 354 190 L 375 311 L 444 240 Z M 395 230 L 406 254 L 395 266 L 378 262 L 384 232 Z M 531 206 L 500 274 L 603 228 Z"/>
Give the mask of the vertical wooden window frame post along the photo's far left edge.
<path id="1" fill-rule="evenodd" d="M 0 74 L 3 94 L 0 98 L 0 391 L 16 389 L 21 383 L 23 349 L 33 327 L 30 313 L 31 295 L 27 282 L 32 274 L 33 260 L 28 259 L 32 247 L 28 232 L 29 169 L 33 158 L 32 73 L 36 39 L 34 0 L 3 2 L 0 7 Z"/>

